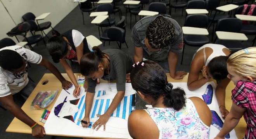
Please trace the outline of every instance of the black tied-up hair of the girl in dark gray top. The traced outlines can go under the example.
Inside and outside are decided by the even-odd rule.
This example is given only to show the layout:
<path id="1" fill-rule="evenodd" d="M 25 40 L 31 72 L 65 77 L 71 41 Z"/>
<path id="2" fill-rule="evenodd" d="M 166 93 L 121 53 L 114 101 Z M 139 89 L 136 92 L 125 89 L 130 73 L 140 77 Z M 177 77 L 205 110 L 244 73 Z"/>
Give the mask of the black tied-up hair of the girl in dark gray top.
<path id="1" fill-rule="evenodd" d="M 98 70 L 104 54 L 99 47 L 93 47 L 91 53 L 84 54 L 80 60 L 80 71 L 84 76 L 89 76 Z"/>

